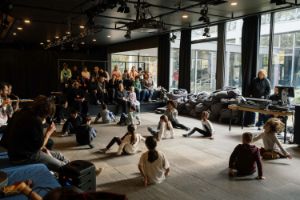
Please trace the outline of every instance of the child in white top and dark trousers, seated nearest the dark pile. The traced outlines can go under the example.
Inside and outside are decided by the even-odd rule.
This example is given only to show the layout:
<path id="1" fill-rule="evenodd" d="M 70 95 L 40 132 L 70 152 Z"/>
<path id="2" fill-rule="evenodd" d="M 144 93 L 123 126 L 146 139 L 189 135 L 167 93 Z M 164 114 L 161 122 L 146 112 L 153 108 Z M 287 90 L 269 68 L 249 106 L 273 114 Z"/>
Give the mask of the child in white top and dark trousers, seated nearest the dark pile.
<path id="1" fill-rule="evenodd" d="M 197 131 L 197 132 L 201 133 L 204 137 L 210 137 L 212 139 L 213 138 L 212 135 L 214 133 L 214 128 L 213 128 L 211 122 L 208 120 L 208 118 L 209 118 L 209 112 L 207 112 L 207 111 L 202 112 L 201 123 L 202 123 L 203 129 L 194 127 L 193 130 L 191 132 L 189 132 L 188 134 L 183 134 L 183 137 L 189 137 Z"/>

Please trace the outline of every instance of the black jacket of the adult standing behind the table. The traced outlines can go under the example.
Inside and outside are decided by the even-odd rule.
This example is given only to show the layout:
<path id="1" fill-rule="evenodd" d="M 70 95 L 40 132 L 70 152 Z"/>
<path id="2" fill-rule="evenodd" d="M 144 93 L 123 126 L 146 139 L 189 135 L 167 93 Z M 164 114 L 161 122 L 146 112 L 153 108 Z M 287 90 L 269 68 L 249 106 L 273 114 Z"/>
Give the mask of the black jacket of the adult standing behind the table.
<path id="1" fill-rule="evenodd" d="M 254 98 L 263 97 L 264 99 L 267 99 L 269 98 L 271 93 L 270 81 L 267 78 L 264 79 L 255 78 L 251 83 L 250 91 L 251 91 L 250 94 Z"/>

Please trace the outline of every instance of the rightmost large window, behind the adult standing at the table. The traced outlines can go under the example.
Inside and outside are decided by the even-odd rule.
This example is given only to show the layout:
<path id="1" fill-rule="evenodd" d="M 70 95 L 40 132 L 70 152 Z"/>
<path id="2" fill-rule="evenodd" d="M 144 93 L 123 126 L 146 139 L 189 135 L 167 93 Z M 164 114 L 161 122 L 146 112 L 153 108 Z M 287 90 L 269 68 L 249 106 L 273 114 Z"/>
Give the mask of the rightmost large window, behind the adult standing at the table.
<path id="1" fill-rule="evenodd" d="M 273 17 L 273 30 L 270 23 Z M 270 35 L 273 43 L 270 44 Z M 272 45 L 272 59 L 269 47 Z M 296 103 L 300 103 L 300 8 L 261 16 L 258 68 L 268 71 L 271 85 L 294 86 Z"/>

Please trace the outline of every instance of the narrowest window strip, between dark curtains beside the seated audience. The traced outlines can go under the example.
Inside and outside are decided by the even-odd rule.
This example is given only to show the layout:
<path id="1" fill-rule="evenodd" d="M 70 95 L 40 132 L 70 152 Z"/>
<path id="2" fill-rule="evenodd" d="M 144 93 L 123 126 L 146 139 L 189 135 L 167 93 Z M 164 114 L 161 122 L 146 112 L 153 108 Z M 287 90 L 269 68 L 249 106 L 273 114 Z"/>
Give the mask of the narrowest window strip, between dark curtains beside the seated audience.
<path id="1" fill-rule="evenodd" d="M 180 36 L 181 36 L 180 32 L 174 32 L 171 34 L 171 37 L 175 39 L 171 41 L 170 83 L 169 83 L 170 89 L 178 88 Z"/>

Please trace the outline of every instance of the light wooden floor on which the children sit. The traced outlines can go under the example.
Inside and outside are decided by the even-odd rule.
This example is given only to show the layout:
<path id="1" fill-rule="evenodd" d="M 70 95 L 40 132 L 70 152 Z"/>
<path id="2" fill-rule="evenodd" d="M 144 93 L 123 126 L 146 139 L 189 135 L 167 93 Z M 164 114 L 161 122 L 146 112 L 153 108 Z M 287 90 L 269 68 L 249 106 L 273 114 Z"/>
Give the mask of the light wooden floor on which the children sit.
<path id="1" fill-rule="evenodd" d="M 156 126 L 159 115 L 142 114 L 142 125 L 138 132 L 149 135 L 146 128 Z M 180 121 L 190 127 L 199 126 L 199 121 L 180 117 Z M 98 149 L 105 147 L 113 136 L 122 136 L 126 128 L 115 124 L 97 124 L 94 127 L 98 135 L 94 149 L 76 146 L 75 137 L 54 137 L 56 149 L 62 151 L 69 159 L 89 160 L 104 170 L 97 177 L 97 190 L 127 194 L 134 199 L 300 199 L 300 149 L 295 145 L 285 145 L 293 159 L 264 161 L 266 180 L 251 178 L 231 180 L 227 177 L 228 158 L 233 148 L 240 143 L 243 131 L 257 132 L 255 128 L 233 127 L 215 124 L 214 140 L 204 139 L 195 134 L 183 138 L 183 130 L 176 129 L 175 139 L 163 140 L 158 149 L 163 151 L 170 162 L 170 176 L 159 185 L 142 186 L 137 164 L 141 153 L 133 156 L 114 156 L 101 154 Z M 58 127 L 60 130 L 60 127 Z M 261 143 L 257 143 L 261 145 Z M 141 152 L 146 151 L 144 144 Z"/>

